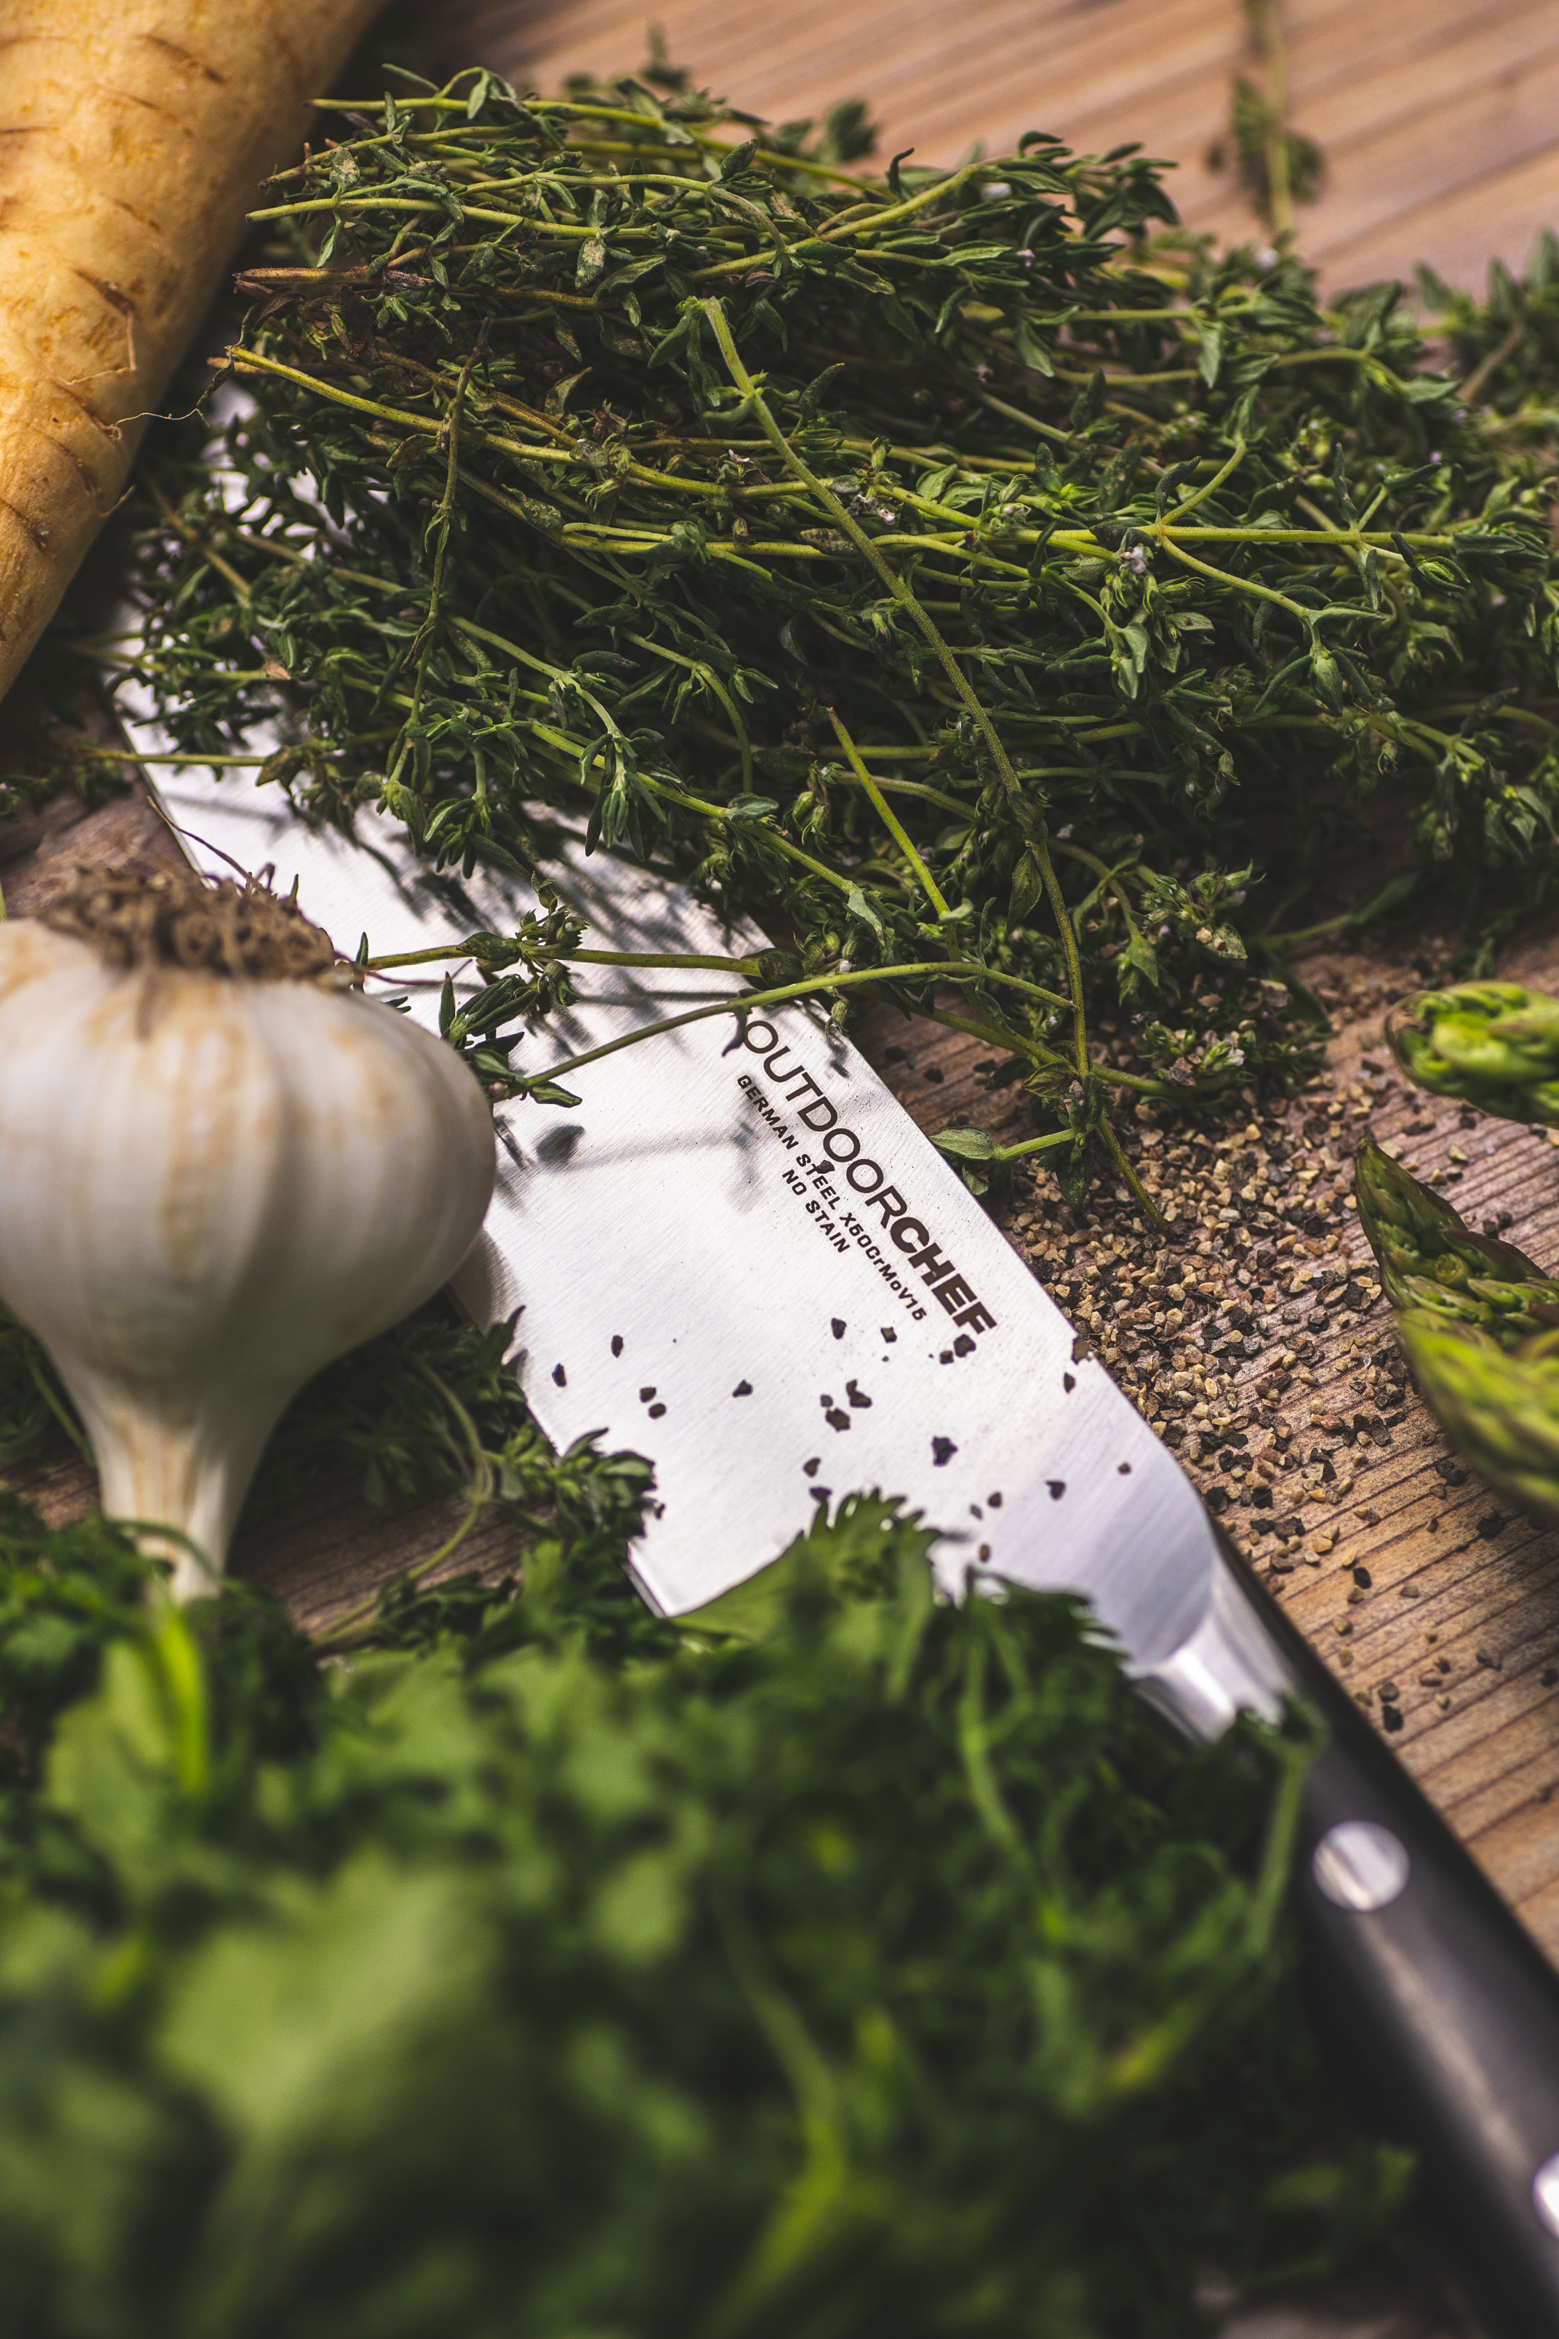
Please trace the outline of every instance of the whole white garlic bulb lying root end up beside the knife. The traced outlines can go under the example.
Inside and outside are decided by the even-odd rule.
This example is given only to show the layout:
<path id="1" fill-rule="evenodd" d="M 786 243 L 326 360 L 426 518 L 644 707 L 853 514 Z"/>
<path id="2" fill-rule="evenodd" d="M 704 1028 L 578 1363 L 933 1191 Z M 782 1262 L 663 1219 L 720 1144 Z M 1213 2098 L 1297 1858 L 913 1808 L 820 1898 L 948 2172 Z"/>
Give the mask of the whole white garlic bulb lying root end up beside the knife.
<path id="1" fill-rule="evenodd" d="M 63 929 L 63 931 L 61 931 Z M 493 1123 L 257 886 L 82 877 L 0 926 L 0 1298 L 49 1350 L 110 1518 L 210 1586 L 290 1396 L 470 1249 Z"/>

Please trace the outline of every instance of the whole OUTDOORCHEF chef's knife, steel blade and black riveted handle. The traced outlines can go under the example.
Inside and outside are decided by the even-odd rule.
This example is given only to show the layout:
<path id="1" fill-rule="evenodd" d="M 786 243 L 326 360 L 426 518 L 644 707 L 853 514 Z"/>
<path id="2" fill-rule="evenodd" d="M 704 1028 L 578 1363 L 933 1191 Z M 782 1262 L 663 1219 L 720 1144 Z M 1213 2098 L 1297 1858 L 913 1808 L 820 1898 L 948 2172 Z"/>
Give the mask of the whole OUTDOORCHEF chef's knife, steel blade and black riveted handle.
<path id="1" fill-rule="evenodd" d="M 297 879 L 341 947 L 428 950 L 533 905 L 491 875 L 430 877 L 374 816 L 358 842 L 309 828 L 248 781 L 180 772 L 164 805 L 196 861 Z M 559 884 L 591 945 L 764 947 L 612 856 L 575 849 Z M 442 975 L 402 980 L 411 1013 L 435 1020 Z M 1082 1593 L 1190 1738 L 1241 1707 L 1316 1710 L 1297 1904 L 1321 2028 L 1421 2150 L 1494 2330 L 1559 2332 L 1559 1979 L 865 1057 L 804 1008 L 732 1015 L 732 989 L 603 971 L 531 1041 L 533 1071 L 594 1057 L 566 1074 L 582 1104 L 500 1109 L 458 1279 L 484 1324 L 521 1310 L 514 1368 L 554 1441 L 601 1429 L 652 1455 L 643 1595 L 699 1607 L 816 1504 L 881 1488 L 944 1530 L 951 1591 Z"/>

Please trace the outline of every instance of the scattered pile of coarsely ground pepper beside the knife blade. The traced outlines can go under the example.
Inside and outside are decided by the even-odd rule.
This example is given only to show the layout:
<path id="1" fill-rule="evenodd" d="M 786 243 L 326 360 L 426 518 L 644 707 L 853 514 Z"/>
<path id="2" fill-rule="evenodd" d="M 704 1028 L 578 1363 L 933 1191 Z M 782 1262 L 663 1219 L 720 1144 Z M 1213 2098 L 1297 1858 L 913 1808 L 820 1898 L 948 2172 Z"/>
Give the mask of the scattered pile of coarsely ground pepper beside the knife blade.
<path id="1" fill-rule="evenodd" d="M 1358 1132 L 1398 1085 L 1325 1071 L 1204 1127 L 1138 1106 L 1122 1141 L 1171 1242 L 1120 1205 L 1082 1221 L 1042 1170 L 1012 1212 L 1045 1286 L 1267 1572 L 1337 1548 L 1351 1455 L 1400 1417 L 1407 1375 L 1374 1340 L 1379 1279 L 1349 1207 Z"/>

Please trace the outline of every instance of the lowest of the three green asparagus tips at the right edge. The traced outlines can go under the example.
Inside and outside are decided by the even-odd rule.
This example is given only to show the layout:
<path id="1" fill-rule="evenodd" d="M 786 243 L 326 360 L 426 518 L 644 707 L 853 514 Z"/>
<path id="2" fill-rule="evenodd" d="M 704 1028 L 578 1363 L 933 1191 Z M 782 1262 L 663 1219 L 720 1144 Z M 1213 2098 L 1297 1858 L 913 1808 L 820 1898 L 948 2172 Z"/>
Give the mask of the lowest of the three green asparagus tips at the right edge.
<path id="1" fill-rule="evenodd" d="M 1398 1317 L 1398 1340 L 1480 1478 L 1536 1518 L 1559 1520 L 1559 1331 L 1505 1350 L 1421 1308 Z"/>

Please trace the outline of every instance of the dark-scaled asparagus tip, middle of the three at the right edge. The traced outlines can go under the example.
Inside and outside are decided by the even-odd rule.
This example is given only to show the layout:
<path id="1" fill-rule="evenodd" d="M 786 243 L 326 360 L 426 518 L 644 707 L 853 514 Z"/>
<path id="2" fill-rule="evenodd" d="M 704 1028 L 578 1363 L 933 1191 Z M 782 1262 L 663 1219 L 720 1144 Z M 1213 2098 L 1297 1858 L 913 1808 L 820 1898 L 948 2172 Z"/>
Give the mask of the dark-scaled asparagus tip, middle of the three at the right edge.
<path id="1" fill-rule="evenodd" d="M 1353 1193 L 1393 1308 L 1468 1324 L 1501 1347 L 1559 1324 L 1559 1282 L 1512 1242 L 1475 1235 L 1449 1202 L 1370 1139 L 1358 1148 Z"/>

